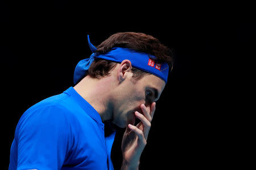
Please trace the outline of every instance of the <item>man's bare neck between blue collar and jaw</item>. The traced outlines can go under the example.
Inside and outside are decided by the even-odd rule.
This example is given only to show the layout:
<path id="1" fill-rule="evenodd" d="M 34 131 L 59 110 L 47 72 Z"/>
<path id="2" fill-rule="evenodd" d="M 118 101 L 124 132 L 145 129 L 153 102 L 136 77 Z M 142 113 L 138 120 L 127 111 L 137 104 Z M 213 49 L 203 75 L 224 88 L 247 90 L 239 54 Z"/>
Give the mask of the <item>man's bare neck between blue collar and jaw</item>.
<path id="1" fill-rule="evenodd" d="M 111 85 L 110 77 L 101 79 L 84 77 L 75 87 L 77 93 L 82 96 L 93 108 L 100 114 L 102 122 L 112 119 L 113 104 L 111 102 Z"/>

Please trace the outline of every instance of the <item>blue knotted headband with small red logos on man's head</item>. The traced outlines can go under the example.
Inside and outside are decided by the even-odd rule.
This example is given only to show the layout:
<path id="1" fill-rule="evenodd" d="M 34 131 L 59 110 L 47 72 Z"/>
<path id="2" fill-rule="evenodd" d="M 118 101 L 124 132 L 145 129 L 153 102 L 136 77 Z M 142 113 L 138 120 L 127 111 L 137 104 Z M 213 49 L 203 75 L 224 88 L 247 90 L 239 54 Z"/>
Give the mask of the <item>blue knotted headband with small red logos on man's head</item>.
<path id="1" fill-rule="evenodd" d="M 88 73 L 90 64 L 93 63 L 95 58 L 114 61 L 117 63 L 122 63 L 122 61 L 126 59 L 130 60 L 132 67 L 154 74 L 155 76 L 162 78 L 162 80 L 167 83 L 169 66 L 167 63 L 155 63 L 155 56 L 121 47 L 114 47 L 111 51 L 105 53 L 104 55 L 96 55 L 94 52 L 97 50 L 97 48 L 90 43 L 89 35 L 87 37 L 90 50 L 93 53 L 88 59 L 81 60 L 76 65 L 74 73 L 75 84 Z"/>

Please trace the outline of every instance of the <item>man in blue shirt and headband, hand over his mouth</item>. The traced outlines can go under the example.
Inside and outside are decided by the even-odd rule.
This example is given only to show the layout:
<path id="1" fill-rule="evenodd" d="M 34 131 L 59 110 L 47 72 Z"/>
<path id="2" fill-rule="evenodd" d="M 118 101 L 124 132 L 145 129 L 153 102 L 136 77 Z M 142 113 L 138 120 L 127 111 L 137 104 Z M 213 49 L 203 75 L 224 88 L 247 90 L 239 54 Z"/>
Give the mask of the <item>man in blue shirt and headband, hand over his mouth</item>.
<path id="1" fill-rule="evenodd" d="M 75 69 L 75 86 L 30 107 L 20 118 L 9 169 L 113 169 L 115 131 L 125 128 L 122 169 L 138 169 L 151 121 L 167 83 L 171 50 L 135 32 L 110 36 Z M 135 118 L 141 122 L 134 125 Z"/>

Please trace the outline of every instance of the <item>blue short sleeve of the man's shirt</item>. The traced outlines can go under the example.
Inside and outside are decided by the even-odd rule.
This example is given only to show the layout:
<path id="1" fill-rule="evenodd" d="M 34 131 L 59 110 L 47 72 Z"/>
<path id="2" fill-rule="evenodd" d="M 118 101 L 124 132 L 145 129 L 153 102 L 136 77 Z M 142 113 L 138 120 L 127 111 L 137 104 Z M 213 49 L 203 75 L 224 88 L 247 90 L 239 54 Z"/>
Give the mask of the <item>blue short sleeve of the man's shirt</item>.
<path id="1" fill-rule="evenodd" d="M 64 109 L 41 106 L 26 113 L 18 125 L 17 169 L 61 169 L 71 146 Z"/>

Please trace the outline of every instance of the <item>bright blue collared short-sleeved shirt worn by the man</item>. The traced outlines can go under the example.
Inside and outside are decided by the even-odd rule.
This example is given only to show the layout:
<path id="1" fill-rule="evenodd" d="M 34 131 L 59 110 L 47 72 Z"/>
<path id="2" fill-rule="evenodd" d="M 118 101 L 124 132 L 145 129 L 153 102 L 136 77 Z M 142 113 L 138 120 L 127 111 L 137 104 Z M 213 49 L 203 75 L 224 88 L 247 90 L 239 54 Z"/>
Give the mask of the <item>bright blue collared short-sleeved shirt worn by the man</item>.
<path id="1" fill-rule="evenodd" d="M 104 135 L 100 114 L 70 87 L 24 112 L 9 169 L 114 169 L 114 136 Z"/>

